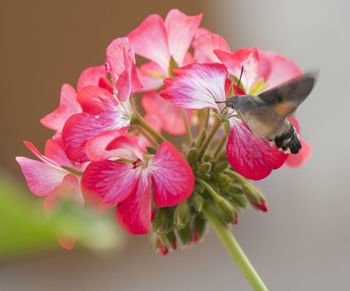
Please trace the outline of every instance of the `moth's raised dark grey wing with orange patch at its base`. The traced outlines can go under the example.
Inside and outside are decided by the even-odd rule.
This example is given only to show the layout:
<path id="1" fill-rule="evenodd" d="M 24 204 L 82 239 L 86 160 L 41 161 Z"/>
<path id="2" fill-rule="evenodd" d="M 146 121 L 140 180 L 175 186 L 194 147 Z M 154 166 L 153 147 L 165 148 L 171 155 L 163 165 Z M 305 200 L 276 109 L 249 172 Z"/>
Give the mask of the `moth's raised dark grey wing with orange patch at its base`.
<path id="1" fill-rule="evenodd" d="M 268 90 L 258 97 L 261 102 L 273 109 L 279 116 L 286 118 L 292 114 L 312 91 L 318 73 L 306 73 Z"/>

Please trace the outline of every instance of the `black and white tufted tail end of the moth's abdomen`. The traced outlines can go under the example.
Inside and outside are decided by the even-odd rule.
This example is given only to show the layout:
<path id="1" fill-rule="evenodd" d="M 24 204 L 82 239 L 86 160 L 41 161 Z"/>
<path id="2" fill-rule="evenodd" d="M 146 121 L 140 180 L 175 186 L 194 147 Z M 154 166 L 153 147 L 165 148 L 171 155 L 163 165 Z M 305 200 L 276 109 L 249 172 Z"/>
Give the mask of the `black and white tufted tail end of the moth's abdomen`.
<path id="1" fill-rule="evenodd" d="M 291 123 L 284 132 L 274 138 L 274 142 L 277 148 L 284 152 L 297 154 L 301 149 L 299 136 Z"/>

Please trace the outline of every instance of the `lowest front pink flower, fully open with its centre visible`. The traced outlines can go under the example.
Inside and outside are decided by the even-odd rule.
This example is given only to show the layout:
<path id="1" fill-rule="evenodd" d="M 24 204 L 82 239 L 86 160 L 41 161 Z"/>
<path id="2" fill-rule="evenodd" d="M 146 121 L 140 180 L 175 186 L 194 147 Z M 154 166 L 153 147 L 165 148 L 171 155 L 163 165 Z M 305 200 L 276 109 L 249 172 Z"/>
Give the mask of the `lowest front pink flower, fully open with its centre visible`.
<path id="1" fill-rule="evenodd" d="M 150 182 L 155 205 L 170 207 L 191 195 L 194 176 L 172 144 L 163 142 L 155 156 L 146 161 L 135 139 L 120 134 L 108 144 L 107 153 L 98 149 L 103 159 L 91 162 L 85 170 L 82 191 L 85 201 L 99 209 L 116 205 L 119 224 L 130 233 L 144 234 L 151 227 Z"/>

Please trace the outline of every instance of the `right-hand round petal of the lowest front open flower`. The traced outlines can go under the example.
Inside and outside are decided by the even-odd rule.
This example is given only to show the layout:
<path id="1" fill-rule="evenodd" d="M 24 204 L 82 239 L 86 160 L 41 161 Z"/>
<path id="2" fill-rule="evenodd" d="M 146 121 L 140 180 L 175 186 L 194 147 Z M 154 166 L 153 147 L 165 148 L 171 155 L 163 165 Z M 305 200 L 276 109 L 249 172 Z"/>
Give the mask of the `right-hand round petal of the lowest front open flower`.
<path id="1" fill-rule="evenodd" d="M 153 200 L 158 207 L 170 207 L 186 200 L 193 191 L 192 169 L 175 146 L 163 142 L 150 160 Z"/>

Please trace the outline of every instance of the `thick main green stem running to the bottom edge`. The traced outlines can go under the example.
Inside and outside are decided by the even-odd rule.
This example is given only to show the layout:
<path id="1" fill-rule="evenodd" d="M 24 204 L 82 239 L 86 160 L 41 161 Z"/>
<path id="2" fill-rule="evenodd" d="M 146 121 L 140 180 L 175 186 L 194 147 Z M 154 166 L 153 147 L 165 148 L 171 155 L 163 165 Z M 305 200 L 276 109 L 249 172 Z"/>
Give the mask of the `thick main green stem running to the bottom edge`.
<path id="1" fill-rule="evenodd" d="M 203 208 L 203 213 L 253 289 L 255 291 L 267 291 L 268 289 L 259 274 L 249 262 L 228 225 L 223 222 L 220 216 L 216 213 L 213 205 L 206 203 Z"/>

